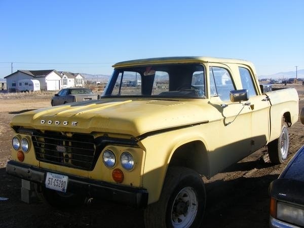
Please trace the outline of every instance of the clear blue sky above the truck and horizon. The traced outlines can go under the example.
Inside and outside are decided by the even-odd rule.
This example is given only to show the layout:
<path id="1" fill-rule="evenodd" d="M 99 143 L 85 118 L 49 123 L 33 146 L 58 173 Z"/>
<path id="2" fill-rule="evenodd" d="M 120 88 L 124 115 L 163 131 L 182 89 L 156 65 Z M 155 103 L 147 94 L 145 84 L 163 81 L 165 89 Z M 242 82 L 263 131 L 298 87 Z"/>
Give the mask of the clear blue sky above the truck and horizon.
<path id="1" fill-rule="evenodd" d="M 17 69 L 110 74 L 125 60 L 212 56 L 258 75 L 304 69 L 304 1 L 0 0 L 0 78 Z"/>

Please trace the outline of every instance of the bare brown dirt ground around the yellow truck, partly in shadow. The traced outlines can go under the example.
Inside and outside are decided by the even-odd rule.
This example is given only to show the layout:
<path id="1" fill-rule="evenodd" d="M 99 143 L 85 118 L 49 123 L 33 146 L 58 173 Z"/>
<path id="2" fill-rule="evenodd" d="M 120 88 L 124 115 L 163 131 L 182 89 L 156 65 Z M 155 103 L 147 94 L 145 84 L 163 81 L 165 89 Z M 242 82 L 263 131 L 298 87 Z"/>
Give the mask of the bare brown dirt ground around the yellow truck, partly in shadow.
<path id="1" fill-rule="evenodd" d="M 299 107 L 303 107 L 304 86 L 288 86 L 297 89 Z M 143 227 L 142 210 L 110 202 L 58 210 L 41 202 L 26 204 L 20 200 L 21 180 L 5 171 L 13 136 L 9 123 L 18 113 L 47 106 L 49 97 L 0 97 L 0 227 Z M 289 129 L 289 159 L 304 144 L 303 129 L 299 122 Z M 262 148 L 210 180 L 205 179 L 203 227 L 269 227 L 268 186 L 286 164 L 274 166 L 267 157 Z"/>

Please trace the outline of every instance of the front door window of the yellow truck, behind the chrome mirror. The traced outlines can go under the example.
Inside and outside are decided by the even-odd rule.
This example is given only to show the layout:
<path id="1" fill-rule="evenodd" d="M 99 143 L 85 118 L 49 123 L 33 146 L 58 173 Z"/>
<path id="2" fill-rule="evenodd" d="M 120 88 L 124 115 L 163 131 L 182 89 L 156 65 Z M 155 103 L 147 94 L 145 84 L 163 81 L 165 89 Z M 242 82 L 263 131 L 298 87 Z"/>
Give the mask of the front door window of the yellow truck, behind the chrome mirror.
<path id="1" fill-rule="evenodd" d="M 230 100 L 230 91 L 235 90 L 231 75 L 222 67 L 210 67 L 210 90 L 211 96 L 219 96 L 223 101 Z"/>

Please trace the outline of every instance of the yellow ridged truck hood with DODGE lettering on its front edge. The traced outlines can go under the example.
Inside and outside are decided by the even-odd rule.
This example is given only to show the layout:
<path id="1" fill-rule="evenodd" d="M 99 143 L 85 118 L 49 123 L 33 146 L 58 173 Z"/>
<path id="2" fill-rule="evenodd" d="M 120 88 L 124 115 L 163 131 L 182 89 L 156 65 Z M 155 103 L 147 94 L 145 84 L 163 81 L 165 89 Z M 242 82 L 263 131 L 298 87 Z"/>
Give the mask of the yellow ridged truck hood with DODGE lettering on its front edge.
<path id="1" fill-rule="evenodd" d="M 196 102 L 109 99 L 40 108 L 13 117 L 11 126 L 64 132 L 104 132 L 134 137 L 208 122 Z"/>

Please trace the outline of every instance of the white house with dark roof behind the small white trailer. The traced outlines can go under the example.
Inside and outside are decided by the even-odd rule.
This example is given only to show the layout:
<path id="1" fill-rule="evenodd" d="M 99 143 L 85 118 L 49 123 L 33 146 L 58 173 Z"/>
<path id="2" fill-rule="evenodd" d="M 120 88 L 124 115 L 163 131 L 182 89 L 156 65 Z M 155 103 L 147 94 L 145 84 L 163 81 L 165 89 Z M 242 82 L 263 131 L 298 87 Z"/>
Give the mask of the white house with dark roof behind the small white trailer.
<path id="1" fill-rule="evenodd" d="M 81 74 L 56 70 L 17 70 L 7 75 L 7 89 L 17 91 L 17 83 L 20 80 L 39 80 L 41 90 L 57 91 L 68 87 L 83 87 L 84 78 Z"/>

